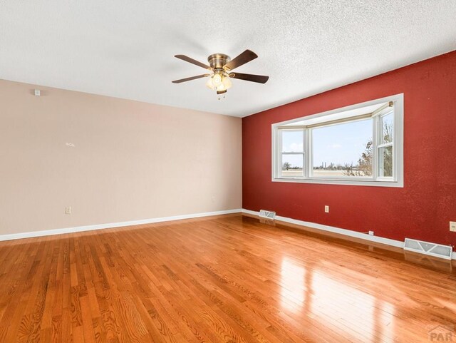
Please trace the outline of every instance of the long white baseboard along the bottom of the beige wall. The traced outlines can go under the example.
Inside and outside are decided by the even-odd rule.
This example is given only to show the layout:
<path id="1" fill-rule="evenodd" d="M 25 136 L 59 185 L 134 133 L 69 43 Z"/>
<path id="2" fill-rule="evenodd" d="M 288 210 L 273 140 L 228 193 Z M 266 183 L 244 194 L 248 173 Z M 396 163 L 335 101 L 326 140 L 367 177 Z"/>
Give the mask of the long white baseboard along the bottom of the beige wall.
<path id="1" fill-rule="evenodd" d="M 198 217 L 209 217 L 210 215 L 227 215 L 229 213 L 240 213 L 240 212 L 242 212 L 242 209 L 237 208 L 234 210 L 192 213 L 190 215 L 174 215 L 172 217 L 130 220 L 128 222 L 110 222 L 108 224 L 66 227 L 64 229 L 11 233 L 9 235 L 0 235 L 0 241 L 2 241 L 2 240 L 20 240 L 22 238 L 41 237 L 41 236 L 49 236 L 49 235 L 62 235 L 64 233 L 109 229 L 109 228 L 113 228 L 113 227 L 123 227 L 123 226 L 132 226 L 132 225 L 152 224 L 153 222 L 169 222 L 170 220 L 182 220 L 182 219 L 190 219 L 190 218 L 198 218 Z"/>

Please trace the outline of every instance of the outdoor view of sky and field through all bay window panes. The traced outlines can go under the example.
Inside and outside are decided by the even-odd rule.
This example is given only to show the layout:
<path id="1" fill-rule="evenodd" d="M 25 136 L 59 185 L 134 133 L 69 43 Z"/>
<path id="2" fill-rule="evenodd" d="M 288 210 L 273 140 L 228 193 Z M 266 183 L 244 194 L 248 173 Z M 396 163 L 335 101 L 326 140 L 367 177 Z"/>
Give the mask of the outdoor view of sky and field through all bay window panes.
<path id="1" fill-rule="evenodd" d="M 306 130 L 311 135 L 314 178 L 371 178 L 373 175 L 373 118 Z M 380 118 L 378 176 L 393 176 L 393 112 Z M 283 130 L 281 175 L 303 177 L 306 163 L 304 130 Z"/>

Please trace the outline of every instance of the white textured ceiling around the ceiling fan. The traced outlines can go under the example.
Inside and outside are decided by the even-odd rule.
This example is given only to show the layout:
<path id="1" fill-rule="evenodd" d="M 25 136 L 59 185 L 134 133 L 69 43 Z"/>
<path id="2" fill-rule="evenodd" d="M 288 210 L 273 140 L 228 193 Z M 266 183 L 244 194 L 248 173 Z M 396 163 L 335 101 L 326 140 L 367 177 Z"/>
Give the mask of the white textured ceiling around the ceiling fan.
<path id="1" fill-rule="evenodd" d="M 456 49 L 455 0 L 0 1 L 0 78 L 247 116 Z M 205 79 L 249 48 L 222 101 Z"/>

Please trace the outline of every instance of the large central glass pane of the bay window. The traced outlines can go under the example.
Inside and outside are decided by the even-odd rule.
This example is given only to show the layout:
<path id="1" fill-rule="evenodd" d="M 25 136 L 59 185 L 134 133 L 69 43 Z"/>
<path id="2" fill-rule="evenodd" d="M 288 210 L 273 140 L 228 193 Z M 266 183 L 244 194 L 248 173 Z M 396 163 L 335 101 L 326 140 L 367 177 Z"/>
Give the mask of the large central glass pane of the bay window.
<path id="1" fill-rule="evenodd" d="M 313 176 L 372 176 L 372 118 L 312 129 Z"/>

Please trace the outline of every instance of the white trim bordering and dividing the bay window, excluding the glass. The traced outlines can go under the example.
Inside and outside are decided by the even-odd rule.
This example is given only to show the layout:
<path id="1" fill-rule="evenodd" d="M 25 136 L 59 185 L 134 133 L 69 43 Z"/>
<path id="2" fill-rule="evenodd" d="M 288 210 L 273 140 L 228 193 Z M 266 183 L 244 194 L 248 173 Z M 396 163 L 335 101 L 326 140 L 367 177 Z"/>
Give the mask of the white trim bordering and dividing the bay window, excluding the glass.
<path id="1" fill-rule="evenodd" d="M 380 103 L 387 103 L 393 101 L 394 103 L 394 126 L 393 126 L 393 175 L 394 178 L 380 178 L 377 177 L 377 160 L 378 158 L 373 158 L 373 179 L 366 180 L 366 178 L 313 178 L 309 175 L 310 167 L 307 165 L 312 165 L 311 159 L 311 137 L 308 132 L 304 130 L 304 177 L 282 177 L 281 176 L 281 131 L 279 127 L 286 126 L 291 123 L 296 123 L 299 121 L 321 118 L 328 116 L 334 113 L 339 113 L 343 111 L 351 111 L 356 108 L 373 106 Z M 373 116 L 373 141 L 377 141 L 378 125 L 375 123 L 379 121 L 380 116 Z M 322 123 L 324 123 L 322 118 Z M 293 126 L 290 126 L 290 130 L 293 130 Z M 316 113 L 311 116 L 305 116 L 301 118 L 291 119 L 289 121 L 282 121 L 280 123 L 274 123 L 271 125 L 271 172 L 272 172 L 272 181 L 273 182 L 283 182 L 283 183 L 317 183 L 317 184 L 326 184 L 326 185 L 363 185 L 363 186 L 378 186 L 378 187 L 404 187 L 404 165 L 403 165 L 403 155 L 404 155 L 404 95 L 396 94 L 394 96 L 387 96 L 385 98 L 375 99 L 373 101 L 366 101 L 364 103 L 357 103 L 355 105 L 346 106 L 343 108 L 336 108 L 331 111 L 326 111 L 322 113 Z M 375 145 L 374 150 L 378 150 L 378 144 Z M 373 152 L 375 155 L 378 154 L 378 151 Z"/>

